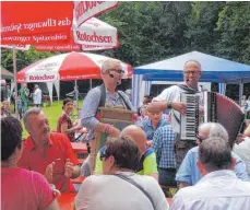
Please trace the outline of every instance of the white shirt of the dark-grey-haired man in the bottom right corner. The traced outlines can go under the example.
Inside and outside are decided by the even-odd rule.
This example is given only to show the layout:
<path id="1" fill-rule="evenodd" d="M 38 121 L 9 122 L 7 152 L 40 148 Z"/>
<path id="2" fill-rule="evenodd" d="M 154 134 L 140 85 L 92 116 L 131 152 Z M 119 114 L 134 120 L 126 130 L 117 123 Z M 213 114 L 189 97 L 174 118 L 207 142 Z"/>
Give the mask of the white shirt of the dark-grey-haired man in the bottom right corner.
<path id="1" fill-rule="evenodd" d="M 249 210 L 250 183 L 229 170 L 206 174 L 197 185 L 180 189 L 170 210 Z"/>

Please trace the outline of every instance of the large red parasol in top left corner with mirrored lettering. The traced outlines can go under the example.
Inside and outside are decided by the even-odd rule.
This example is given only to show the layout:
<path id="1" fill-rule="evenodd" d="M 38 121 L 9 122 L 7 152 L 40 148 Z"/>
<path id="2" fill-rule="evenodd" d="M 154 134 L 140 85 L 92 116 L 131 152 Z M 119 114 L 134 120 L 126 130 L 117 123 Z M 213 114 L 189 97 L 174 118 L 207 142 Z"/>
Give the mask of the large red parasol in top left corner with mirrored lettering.
<path id="1" fill-rule="evenodd" d="M 67 43 L 71 36 L 73 14 L 76 26 L 80 26 L 90 18 L 116 7 L 117 3 L 117 1 L 1 2 L 1 43 Z"/>

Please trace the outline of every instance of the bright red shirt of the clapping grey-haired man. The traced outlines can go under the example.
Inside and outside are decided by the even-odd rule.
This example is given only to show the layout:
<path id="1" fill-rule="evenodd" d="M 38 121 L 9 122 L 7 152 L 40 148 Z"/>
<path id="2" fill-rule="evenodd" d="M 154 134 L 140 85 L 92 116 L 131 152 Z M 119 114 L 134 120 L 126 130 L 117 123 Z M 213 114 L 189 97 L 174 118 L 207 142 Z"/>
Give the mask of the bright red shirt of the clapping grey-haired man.
<path id="1" fill-rule="evenodd" d="M 36 149 L 32 138 L 28 137 L 23 143 L 23 154 L 17 165 L 29 171 L 39 172 L 44 175 L 47 165 L 55 162 L 52 184 L 56 185 L 56 188 L 61 192 L 75 191 L 70 178 L 64 176 L 67 159 L 74 165 L 79 164 L 68 137 L 63 133 L 53 132 L 50 133 L 45 155 Z"/>

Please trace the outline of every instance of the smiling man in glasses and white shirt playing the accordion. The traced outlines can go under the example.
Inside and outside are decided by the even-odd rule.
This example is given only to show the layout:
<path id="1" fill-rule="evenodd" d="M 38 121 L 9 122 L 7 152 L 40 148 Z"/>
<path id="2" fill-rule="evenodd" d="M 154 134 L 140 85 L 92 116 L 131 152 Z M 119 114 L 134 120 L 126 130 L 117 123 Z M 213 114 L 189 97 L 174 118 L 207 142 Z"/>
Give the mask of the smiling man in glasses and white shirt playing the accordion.
<path id="1" fill-rule="evenodd" d="M 181 93 L 189 93 L 202 96 L 199 90 L 199 80 L 201 78 L 201 65 L 195 60 L 189 60 L 183 67 L 183 84 L 172 85 L 165 89 L 147 106 L 151 113 L 170 109 L 172 130 L 177 133 L 175 139 L 176 166 L 179 168 L 187 152 L 195 147 L 195 141 L 180 139 L 180 115 L 186 113 L 186 104 L 181 103 Z"/>

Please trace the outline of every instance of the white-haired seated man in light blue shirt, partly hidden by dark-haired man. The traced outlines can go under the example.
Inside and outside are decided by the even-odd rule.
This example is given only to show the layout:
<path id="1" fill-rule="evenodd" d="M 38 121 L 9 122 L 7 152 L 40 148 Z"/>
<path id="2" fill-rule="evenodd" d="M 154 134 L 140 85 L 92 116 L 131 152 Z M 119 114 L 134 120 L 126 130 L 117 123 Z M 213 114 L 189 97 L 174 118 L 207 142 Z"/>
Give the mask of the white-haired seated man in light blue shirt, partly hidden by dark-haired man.
<path id="1" fill-rule="evenodd" d="M 226 129 L 217 122 L 202 124 L 199 127 L 197 143 L 200 144 L 204 139 L 207 139 L 209 137 L 219 137 L 228 141 L 228 133 Z M 201 179 L 201 173 L 197 166 L 198 150 L 199 147 L 195 147 L 188 151 L 183 162 L 180 165 L 180 168 L 176 174 L 176 180 L 179 183 L 180 188 L 195 185 Z M 234 168 L 236 176 L 240 179 L 247 180 L 248 173 L 246 164 L 236 153 L 231 152 L 231 155 L 236 159 L 236 165 Z"/>

